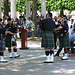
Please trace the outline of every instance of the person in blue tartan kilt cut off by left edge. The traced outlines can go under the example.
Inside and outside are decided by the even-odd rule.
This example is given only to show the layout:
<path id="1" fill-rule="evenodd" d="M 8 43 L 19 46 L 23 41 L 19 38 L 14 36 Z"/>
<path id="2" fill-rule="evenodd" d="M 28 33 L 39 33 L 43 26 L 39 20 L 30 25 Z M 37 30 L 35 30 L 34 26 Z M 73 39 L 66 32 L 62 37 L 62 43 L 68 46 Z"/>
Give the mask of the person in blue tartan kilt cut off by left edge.
<path id="1" fill-rule="evenodd" d="M 0 62 L 7 62 L 4 57 L 4 51 L 5 51 L 5 34 L 7 34 L 7 31 L 5 27 L 2 25 L 2 19 L 0 18 Z"/>

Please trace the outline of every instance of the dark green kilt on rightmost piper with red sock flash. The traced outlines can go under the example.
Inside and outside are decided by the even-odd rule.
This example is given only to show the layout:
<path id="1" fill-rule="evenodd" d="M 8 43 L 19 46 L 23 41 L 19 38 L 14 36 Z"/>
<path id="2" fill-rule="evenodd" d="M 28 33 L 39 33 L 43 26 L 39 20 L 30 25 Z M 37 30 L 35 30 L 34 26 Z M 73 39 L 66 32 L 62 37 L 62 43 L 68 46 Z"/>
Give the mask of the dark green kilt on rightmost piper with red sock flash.
<path id="1" fill-rule="evenodd" d="M 59 36 L 59 47 L 60 48 L 70 48 L 69 35 Z"/>

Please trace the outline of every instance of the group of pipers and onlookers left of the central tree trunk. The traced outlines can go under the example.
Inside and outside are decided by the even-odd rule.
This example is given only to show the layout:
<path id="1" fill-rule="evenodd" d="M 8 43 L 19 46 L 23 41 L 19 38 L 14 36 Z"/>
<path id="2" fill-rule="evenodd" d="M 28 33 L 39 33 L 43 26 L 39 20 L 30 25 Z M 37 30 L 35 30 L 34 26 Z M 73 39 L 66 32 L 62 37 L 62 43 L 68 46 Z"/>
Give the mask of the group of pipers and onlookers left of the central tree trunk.
<path id="1" fill-rule="evenodd" d="M 27 30 L 27 37 L 32 37 L 32 32 L 35 29 L 35 25 L 31 20 L 28 20 L 24 16 L 20 16 L 19 19 L 10 17 L 0 18 L 0 62 L 8 62 L 5 60 L 4 51 L 8 48 L 9 58 L 18 58 L 20 55 L 17 54 L 17 43 L 16 39 L 21 38 L 21 32 L 19 32 L 19 27 Z M 12 54 L 12 49 L 14 56 Z"/>

